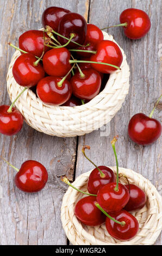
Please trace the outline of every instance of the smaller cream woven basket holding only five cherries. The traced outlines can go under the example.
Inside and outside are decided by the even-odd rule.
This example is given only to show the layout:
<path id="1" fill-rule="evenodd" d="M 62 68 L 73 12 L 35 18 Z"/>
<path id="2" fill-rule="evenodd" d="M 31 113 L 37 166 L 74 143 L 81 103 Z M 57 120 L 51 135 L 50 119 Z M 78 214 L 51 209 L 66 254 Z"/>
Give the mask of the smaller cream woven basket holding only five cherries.
<path id="1" fill-rule="evenodd" d="M 116 173 L 116 167 L 110 167 Z M 61 206 L 61 221 L 65 233 L 73 245 L 153 245 L 162 229 L 162 200 L 151 182 L 139 173 L 130 169 L 119 168 L 119 172 L 126 175 L 131 184 L 139 186 L 145 191 L 147 202 L 144 208 L 132 212 L 139 222 L 138 234 L 129 241 L 119 241 L 108 234 L 105 224 L 90 227 L 78 221 L 74 215 L 74 206 L 83 196 L 82 193 L 68 187 Z M 73 185 L 87 192 L 86 184 L 90 172 L 80 175 Z M 126 184 L 126 179 L 120 178 Z"/>

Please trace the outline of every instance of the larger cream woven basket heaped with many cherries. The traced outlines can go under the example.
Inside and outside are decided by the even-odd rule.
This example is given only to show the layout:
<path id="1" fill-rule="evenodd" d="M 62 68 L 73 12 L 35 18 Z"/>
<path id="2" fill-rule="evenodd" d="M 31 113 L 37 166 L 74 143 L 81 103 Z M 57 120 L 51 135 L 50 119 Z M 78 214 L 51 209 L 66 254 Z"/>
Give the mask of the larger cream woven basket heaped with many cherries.
<path id="1" fill-rule="evenodd" d="M 104 39 L 112 40 L 113 36 L 103 32 Z M 82 106 L 49 106 L 43 103 L 32 90 L 26 92 L 16 101 L 16 108 L 22 113 L 26 123 L 35 130 L 58 137 L 74 137 L 89 133 L 114 117 L 122 106 L 129 90 L 129 66 L 123 54 L 121 71 L 111 74 L 104 90 L 94 99 Z M 21 92 L 13 77 L 13 65 L 20 52 L 16 51 L 11 59 L 7 75 L 7 88 L 10 100 L 14 101 Z"/>

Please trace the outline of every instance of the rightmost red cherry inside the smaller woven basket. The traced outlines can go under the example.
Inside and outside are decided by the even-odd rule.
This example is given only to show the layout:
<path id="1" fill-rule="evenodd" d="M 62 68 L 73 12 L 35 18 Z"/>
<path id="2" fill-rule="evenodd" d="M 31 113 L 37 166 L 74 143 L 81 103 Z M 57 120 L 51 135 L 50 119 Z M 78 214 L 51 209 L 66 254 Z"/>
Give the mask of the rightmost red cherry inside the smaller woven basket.
<path id="1" fill-rule="evenodd" d="M 141 190 L 138 186 L 134 184 L 126 185 L 126 187 L 129 190 L 130 186 L 130 197 L 129 201 L 124 206 L 124 209 L 126 211 L 135 211 L 135 210 L 140 210 L 144 207 L 146 204 L 146 194 L 144 191 Z"/>

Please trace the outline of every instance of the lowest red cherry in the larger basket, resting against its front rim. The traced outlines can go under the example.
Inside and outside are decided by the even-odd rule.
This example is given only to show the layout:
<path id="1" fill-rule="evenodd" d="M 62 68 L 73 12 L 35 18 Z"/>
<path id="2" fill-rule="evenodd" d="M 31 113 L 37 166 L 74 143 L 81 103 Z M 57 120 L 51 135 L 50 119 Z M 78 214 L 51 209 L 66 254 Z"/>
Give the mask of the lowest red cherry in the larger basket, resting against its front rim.
<path id="1" fill-rule="evenodd" d="M 58 82 L 60 77 L 47 76 L 39 81 L 36 87 L 36 93 L 43 102 L 49 105 L 60 106 L 70 99 L 72 87 L 68 80 L 65 80 L 61 87 Z"/>

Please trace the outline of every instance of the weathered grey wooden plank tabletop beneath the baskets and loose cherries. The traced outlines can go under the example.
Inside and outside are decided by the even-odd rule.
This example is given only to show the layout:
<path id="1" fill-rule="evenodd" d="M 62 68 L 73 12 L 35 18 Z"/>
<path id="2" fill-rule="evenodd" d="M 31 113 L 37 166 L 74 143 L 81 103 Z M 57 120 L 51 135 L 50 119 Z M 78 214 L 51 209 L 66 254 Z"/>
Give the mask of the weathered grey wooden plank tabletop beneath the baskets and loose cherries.
<path id="1" fill-rule="evenodd" d="M 9 103 L 6 75 L 14 49 L 8 42 L 18 45 L 18 37 L 29 29 L 39 29 L 43 10 L 57 5 L 82 14 L 89 23 L 100 28 L 119 23 L 121 11 L 139 8 L 151 17 L 151 31 L 141 40 L 129 40 L 122 28 L 109 29 L 123 48 L 130 66 L 130 89 L 121 110 L 110 123 L 110 135 L 103 130 L 74 138 L 47 136 L 24 124 L 18 135 L 0 135 L 0 155 L 19 168 L 22 162 L 32 159 L 44 164 L 49 173 L 48 184 L 39 193 L 26 194 L 14 185 L 15 170 L 0 161 L 0 243 L 1 245 L 67 245 L 61 226 L 61 200 L 67 189 L 60 181 L 66 174 L 70 180 L 92 169 L 82 155 L 83 144 L 91 146 L 88 152 L 96 164 L 115 165 L 110 141 L 119 135 L 117 154 L 119 165 L 130 168 L 148 178 L 161 192 L 160 139 L 142 147 L 134 144 L 127 135 L 130 117 L 138 112 L 149 114 L 160 95 L 161 43 L 160 0 L 0 0 L 1 36 L 3 47 L 0 57 L 0 103 Z M 160 120 L 161 105 L 154 117 Z M 106 129 L 108 126 L 104 127 Z M 104 135 L 104 136 L 103 136 Z M 161 237 L 162 239 L 162 237 Z M 160 245 L 160 236 L 155 243 Z"/>

